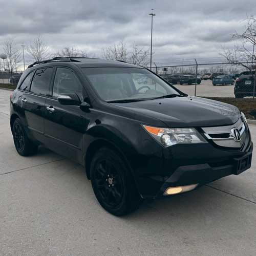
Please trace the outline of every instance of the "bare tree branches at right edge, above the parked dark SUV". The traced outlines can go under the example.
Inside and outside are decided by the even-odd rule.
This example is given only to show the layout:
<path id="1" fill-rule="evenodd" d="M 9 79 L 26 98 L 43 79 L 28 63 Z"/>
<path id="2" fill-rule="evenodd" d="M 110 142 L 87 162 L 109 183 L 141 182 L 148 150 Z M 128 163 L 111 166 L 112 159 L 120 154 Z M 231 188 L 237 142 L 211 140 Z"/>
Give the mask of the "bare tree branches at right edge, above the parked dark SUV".
<path id="1" fill-rule="evenodd" d="M 232 38 L 239 41 L 238 44 L 234 45 L 234 49 L 231 50 L 223 48 L 221 55 L 233 65 L 252 71 L 253 62 L 256 61 L 255 54 L 252 55 L 252 48 L 256 45 L 256 18 L 253 16 L 247 18 L 244 32 L 235 32 Z"/>

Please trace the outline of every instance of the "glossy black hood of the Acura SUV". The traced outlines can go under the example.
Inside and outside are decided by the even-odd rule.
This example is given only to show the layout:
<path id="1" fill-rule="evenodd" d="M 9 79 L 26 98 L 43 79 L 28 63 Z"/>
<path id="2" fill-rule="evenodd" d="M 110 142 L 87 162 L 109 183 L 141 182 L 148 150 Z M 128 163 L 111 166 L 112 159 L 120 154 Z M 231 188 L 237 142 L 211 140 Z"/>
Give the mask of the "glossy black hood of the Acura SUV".
<path id="1" fill-rule="evenodd" d="M 240 111 L 236 106 L 199 97 L 163 98 L 114 104 L 161 120 L 168 127 L 231 125 L 240 118 Z"/>

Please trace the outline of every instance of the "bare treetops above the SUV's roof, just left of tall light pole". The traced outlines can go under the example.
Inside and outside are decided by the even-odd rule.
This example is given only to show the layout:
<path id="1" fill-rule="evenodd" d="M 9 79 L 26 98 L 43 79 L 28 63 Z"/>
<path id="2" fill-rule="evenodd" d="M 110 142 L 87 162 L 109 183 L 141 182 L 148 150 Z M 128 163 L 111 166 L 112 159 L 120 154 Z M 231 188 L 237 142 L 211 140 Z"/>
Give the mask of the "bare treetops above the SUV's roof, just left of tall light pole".
<path id="1" fill-rule="evenodd" d="M 109 60 L 123 60 L 125 62 L 147 66 L 149 63 L 149 50 L 133 44 L 131 50 L 127 49 L 125 42 L 120 41 L 118 45 L 113 45 L 102 50 L 102 57 Z"/>

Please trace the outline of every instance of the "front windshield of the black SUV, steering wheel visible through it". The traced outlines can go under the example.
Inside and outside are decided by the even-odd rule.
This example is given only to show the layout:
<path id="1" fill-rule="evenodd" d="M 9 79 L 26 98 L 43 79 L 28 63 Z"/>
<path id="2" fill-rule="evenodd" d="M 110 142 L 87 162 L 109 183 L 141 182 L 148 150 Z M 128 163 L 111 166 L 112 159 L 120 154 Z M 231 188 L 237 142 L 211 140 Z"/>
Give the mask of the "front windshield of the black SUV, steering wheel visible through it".
<path id="1" fill-rule="evenodd" d="M 107 101 L 122 99 L 151 99 L 179 94 L 169 84 L 146 69 L 83 68 L 99 96 Z"/>

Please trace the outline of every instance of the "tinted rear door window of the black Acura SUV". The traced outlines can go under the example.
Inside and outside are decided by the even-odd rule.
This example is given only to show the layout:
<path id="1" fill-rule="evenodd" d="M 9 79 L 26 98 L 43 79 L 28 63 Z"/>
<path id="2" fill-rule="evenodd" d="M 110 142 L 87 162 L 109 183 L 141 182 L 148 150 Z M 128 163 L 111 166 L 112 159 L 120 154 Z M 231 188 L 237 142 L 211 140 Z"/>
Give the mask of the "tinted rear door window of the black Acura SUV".
<path id="1" fill-rule="evenodd" d="M 53 68 L 38 69 L 31 83 L 30 92 L 39 95 L 48 95 Z"/>

